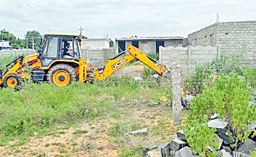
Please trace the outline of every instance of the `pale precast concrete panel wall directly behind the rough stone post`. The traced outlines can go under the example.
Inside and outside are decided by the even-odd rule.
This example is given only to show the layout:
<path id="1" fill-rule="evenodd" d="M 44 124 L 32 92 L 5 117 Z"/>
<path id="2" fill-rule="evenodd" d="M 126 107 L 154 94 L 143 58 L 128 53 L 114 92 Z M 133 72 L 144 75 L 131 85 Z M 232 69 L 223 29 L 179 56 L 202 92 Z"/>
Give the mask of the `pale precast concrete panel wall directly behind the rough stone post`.
<path id="1" fill-rule="evenodd" d="M 195 66 L 197 63 L 206 64 L 207 62 L 212 61 L 215 56 L 220 55 L 220 47 L 219 46 L 187 46 L 187 47 L 159 47 L 159 61 L 162 64 L 166 65 L 166 68 L 170 69 L 171 63 L 171 55 L 178 54 L 180 70 L 183 73 L 188 73 L 195 70 Z"/>

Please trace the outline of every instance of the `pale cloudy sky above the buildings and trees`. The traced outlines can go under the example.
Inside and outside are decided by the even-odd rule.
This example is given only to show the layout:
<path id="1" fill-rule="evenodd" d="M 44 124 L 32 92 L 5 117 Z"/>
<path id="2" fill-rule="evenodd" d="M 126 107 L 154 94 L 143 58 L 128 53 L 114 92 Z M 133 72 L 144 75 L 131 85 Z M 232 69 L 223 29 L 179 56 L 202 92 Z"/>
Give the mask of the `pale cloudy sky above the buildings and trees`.
<path id="1" fill-rule="evenodd" d="M 216 22 L 256 20 L 255 0 L 0 0 L 0 29 L 103 38 L 182 36 Z"/>

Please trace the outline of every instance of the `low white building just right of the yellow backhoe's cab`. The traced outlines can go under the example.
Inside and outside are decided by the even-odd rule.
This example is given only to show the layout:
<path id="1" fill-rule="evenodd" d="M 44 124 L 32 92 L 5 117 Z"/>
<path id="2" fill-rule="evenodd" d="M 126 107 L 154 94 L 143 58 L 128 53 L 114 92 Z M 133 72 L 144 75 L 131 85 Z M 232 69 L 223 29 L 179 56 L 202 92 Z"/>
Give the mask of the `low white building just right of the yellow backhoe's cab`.
<path id="1" fill-rule="evenodd" d="M 81 49 L 109 49 L 110 40 L 106 38 L 82 39 Z"/>

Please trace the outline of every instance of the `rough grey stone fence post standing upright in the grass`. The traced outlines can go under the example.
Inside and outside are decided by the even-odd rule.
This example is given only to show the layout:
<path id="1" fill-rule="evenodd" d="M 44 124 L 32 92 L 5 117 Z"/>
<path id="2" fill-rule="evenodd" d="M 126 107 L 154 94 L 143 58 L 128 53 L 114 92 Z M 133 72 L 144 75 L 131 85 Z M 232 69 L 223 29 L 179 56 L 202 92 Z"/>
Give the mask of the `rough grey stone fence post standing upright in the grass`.
<path id="1" fill-rule="evenodd" d="M 171 55 L 172 78 L 172 113 L 174 126 L 180 126 L 182 120 L 182 104 L 180 101 L 180 69 L 178 54 Z"/>

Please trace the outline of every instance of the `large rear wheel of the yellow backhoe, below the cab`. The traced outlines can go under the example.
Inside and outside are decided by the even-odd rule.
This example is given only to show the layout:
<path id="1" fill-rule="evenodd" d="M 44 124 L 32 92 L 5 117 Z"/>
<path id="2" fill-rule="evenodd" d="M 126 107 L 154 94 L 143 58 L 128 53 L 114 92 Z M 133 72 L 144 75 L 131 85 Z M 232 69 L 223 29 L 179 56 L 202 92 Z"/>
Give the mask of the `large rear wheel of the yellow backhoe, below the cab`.
<path id="1" fill-rule="evenodd" d="M 65 86 L 77 80 L 77 74 L 73 67 L 68 64 L 57 64 L 47 73 L 47 82 L 57 86 Z"/>

